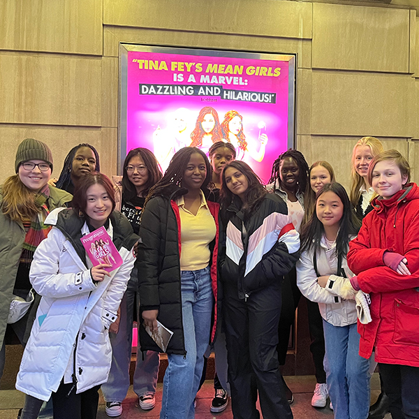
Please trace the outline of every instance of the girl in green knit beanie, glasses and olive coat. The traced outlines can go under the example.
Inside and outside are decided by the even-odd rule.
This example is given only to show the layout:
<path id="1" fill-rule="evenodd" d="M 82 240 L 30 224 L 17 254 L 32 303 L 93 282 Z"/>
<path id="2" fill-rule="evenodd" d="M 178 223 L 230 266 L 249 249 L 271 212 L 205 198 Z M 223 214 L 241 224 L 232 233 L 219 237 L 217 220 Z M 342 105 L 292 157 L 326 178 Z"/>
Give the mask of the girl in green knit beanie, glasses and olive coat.
<path id="1" fill-rule="evenodd" d="M 15 323 L 8 321 L 13 295 L 31 300 L 29 267 L 34 251 L 50 227 L 44 225 L 47 214 L 64 207 L 72 196 L 47 184 L 52 172 L 51 150 L 41 141 L 27 138 L 17 147 L 16 175 L 0 187 L 0 378 L 5 360 L 4 341 L 12 329 L 25 344 L 31 330 L 36 305 Z M 34 293 L 35 300 L 38 295 Z"/>

